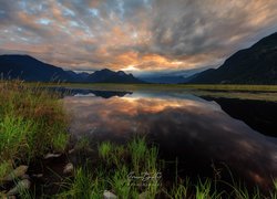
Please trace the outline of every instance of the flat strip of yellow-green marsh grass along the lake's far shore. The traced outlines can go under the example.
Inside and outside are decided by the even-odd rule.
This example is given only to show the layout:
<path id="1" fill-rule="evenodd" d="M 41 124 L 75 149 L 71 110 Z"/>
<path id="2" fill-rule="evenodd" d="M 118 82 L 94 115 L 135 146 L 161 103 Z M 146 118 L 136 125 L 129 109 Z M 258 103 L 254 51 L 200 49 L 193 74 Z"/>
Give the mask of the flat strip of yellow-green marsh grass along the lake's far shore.
<path id="1" fill-rule="evenodd" d="M 33 84 L 34 83 L 30 83 L 30 85 Z M 58 85 L 53 83 L 45 83 L 43 86 L 55 87 Z M 185 92 L 197 96 L 277 102 L 277 85 L 61 83 L 59 86 L 68 88 L 89 88 L 95 91 Z"/>

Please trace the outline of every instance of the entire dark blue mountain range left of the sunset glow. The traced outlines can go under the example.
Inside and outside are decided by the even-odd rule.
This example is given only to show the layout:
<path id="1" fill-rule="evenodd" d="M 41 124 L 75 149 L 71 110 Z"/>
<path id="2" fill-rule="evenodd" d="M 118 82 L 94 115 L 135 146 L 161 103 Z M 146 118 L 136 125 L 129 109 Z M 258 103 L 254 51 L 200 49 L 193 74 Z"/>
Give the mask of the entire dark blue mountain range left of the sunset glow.
<path id="1" fill-rule="evenodd" d="M 43 63 L 29 55 L 0 55 L 1 78 L 20 78 L 28 82 L 80 82 L 80 83 L 143 83 L 132 74 L 111 70 L 89 73 L 64 71 L 61 67 Z"/>

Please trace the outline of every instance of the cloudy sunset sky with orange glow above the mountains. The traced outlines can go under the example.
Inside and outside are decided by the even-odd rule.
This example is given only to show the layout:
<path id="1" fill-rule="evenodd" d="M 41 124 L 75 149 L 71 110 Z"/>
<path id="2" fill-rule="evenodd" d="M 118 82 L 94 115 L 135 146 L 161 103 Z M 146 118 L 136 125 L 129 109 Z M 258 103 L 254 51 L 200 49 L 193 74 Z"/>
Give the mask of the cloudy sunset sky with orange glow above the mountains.
<path id="1" fill-rule="evenodd" d="M 0 54 L 74 71 L 217 67 L 276 31 L 276 0 L 0 0 Z"/>

